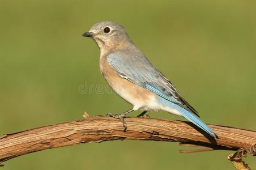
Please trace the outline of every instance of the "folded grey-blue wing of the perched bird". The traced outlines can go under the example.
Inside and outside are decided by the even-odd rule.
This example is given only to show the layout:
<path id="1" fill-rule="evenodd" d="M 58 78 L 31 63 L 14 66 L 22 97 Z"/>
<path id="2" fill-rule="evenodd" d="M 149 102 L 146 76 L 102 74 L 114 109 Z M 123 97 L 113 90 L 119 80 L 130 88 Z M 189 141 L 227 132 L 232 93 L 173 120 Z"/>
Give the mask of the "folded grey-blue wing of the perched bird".
<path id="1" fill-rule="evenodd" d="M 189 112 L 196 114 L 197 111 L 180 96 L 170 80 L 166 78 L 141 52 L 114 52 L 106 57 L 109 65 L 123 78 L 147 88 L 151 92 L 171 101 Z"/>

